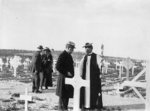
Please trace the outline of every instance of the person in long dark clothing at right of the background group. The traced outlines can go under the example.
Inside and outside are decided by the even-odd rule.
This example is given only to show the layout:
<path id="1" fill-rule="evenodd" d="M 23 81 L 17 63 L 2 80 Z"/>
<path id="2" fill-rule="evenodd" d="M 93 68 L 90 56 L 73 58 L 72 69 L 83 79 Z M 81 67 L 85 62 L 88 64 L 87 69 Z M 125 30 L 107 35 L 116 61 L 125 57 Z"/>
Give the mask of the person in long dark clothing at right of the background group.
<path id="1" fill-rule="evenodd" d="M 44 62 L 44 81 L 43 86 L 45 86 L 45 89 L 48 89 L 48 86 L 53 86 L 52 81 L 52 72 L 53 72 L 53 56 L 51 54 L 51 50 L 46 47 L 44 49 L 45 51 L 45 57 L 43 58 Z"/>

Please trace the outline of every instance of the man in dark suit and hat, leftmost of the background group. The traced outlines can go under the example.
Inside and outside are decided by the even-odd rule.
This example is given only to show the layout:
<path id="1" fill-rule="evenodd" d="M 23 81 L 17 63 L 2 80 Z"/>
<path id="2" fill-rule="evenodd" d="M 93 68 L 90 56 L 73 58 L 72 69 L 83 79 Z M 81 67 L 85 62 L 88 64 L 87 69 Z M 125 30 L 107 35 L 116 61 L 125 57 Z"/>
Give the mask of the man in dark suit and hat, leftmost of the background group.
<path id="1" fill-rule="evenodd" d="M 37 47 L 37 51 L 33 54 L 32 57 L 32 76 L 33 76 L 33 86 L 32 86 L 32 92 L 41 93 L 39 91 L 39 85 L 40 85 L 40 73 L 42 72 L 42 59 L 41 59 L 41 52 L 43 50 L 43 46 Z"/>

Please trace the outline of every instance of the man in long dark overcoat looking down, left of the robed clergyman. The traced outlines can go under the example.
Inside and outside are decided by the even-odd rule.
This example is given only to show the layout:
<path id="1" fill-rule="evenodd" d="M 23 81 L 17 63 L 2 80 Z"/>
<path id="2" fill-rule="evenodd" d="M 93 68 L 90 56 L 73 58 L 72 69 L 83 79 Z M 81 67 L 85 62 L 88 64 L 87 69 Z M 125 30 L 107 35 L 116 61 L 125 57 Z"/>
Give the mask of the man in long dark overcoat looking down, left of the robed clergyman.
<path id="1" fill-rule="evenodd" d="M 73 98 L 73 87 L 65 84 L 65 78 L 74 76 L 74 62 L 71 53 L 74 51 L 75 43 L 68 42 L 66 50 L 58 57 L 56 69 L 58 71 L 58 80 L 56 95 L 59 96 L 59 110 L 67 110 L 69 98 Z"/>

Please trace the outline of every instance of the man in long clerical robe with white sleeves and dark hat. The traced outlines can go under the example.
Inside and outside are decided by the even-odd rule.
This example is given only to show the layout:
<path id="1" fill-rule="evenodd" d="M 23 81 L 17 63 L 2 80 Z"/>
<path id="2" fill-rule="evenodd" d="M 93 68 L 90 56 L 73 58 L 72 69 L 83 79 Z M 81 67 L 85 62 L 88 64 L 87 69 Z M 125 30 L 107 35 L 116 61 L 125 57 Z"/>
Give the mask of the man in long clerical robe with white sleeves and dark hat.
<path id="1" fill-rule="evenodd" d="M 101 61 L 102 58 L 93 53 L 93 46 L 85 44 L 86 55 L 81 60 L 80 74 L 82 79 L 90 80 L 89 87 L 81 88 L 80 107 L 84 109 L 101 109 Z"/>

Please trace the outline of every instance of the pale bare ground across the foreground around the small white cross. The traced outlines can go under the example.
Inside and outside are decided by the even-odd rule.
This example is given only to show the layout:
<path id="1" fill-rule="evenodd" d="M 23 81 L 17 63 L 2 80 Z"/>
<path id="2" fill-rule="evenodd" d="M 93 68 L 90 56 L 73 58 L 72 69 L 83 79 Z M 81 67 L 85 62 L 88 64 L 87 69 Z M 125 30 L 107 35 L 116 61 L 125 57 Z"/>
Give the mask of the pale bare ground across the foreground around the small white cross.
<path id="1" fill-rule="evenodd" d="M 23 83 L 17 80 L 0 81 L 0 111 L 24 111 L 24 101 L 19 99 L 28 88 L 28 95 L 33 100 L 29 101 L 29 111 L 57 111 L 58 97 L 55 95 L 55 87 L 43 90 L 43 93 L 31 92 L 31 83 Z M 117 95 L 103 93 L 103 111 L 144 111 L 144 104 L 138 98 L 120 97 Z M 73 100 L 69 102 L 69 110 L 72 110 Z"/>

